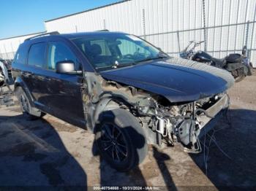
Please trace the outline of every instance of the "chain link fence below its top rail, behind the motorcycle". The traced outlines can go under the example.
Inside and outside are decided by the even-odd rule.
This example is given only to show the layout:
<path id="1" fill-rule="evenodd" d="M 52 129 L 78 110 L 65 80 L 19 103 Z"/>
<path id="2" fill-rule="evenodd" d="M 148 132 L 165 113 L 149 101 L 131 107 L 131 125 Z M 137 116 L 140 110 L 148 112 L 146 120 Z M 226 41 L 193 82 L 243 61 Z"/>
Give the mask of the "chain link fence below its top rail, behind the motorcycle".
<path id="1" fill-rule="evenodd" d="M 256 48 L 252 47 L 256 21 L 235 23 L 223 26 L 193 28 L 182 31 L 170 31 L 157 34 L 145 34 L 140 37 L 161 47 L 167 54 L 178 57 L 190 41 L 204 41 L 197 50 L 206 50 L 216 58 L 223 58 L 230 53 L 241 53 L 247 47 L 247 57 L 256 67 Z M 235 31 L 235 35 L 230 31 Z M 239 35 L 239 36 L 238 36 Z M 178 44 L 178 46 L 177 46 Z"/>

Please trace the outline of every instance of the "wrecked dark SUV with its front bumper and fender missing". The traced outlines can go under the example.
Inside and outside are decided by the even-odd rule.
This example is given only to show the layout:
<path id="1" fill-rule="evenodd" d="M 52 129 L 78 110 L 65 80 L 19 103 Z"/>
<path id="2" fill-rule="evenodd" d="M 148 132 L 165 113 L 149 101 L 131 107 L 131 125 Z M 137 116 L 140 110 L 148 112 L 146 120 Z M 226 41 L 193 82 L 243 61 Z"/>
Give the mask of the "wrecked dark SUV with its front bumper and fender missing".
<path id="1" fill-rule="evenodd" d="M 227 71 L 108 31 L 26 39 L 12 75 L 24 114 L 48 113 L 89 128 L 118 171 L 141 163 L 147 144 L 200 152 L 200 135 L 228 108 L 226 90 L 234 82 Z"/>

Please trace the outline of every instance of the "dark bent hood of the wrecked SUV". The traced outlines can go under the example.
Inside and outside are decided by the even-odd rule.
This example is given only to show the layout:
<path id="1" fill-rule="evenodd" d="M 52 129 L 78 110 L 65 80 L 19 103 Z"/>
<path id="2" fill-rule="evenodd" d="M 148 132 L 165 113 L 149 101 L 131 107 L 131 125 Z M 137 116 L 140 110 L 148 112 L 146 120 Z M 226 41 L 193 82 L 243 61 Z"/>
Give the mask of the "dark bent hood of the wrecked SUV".
<path id="1" fill-rule="evenodd" d="M 227 82 L 206 71 L 157 61 L 100 72 L 103 78 L 156 93 L 171 102 L 195 101 L 227 90 Z"/>

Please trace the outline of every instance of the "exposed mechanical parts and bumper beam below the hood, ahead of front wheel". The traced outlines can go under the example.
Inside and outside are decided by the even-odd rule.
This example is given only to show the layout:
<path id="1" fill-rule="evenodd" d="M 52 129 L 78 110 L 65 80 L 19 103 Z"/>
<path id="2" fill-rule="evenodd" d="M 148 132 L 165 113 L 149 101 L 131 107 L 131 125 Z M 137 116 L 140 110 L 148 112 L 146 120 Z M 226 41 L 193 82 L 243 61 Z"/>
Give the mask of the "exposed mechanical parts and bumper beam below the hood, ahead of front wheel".
<path id="1" fill-rule="evenodd" d="M 180 142 L 186 152 L 197 153 L 201 152 L 201 130 L 222 109 L 228 107 L 228 97 L 220 93 L 189 103 L 162 105 L 166 103 L 161 99 L 156 101 L 148 98 L 148 106 L 138 104 L 138 113 L 146 116 L 140 117 L 143 118 L 143 125 L 156 133 L 157 144 L 165 142 L 174 145 Z"/>

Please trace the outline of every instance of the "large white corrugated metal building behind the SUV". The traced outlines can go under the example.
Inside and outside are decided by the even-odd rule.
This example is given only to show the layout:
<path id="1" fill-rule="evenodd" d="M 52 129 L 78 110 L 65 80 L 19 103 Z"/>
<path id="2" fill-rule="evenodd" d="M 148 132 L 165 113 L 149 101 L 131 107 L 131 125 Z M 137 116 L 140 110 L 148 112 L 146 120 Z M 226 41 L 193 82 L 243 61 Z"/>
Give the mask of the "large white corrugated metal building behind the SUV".
<path id="1" fill-rule="evenodd" d="M 246 45 L 256 67 L 255 15 L 256 0 L 127 0 L 47 20 L 45 28 L 60 33 L 124 31 L 174 56 L 191 40 L 205 40 L 198 49 L 217 58 Z M 2 44 L 0 40 L 1 52 Z"/>

